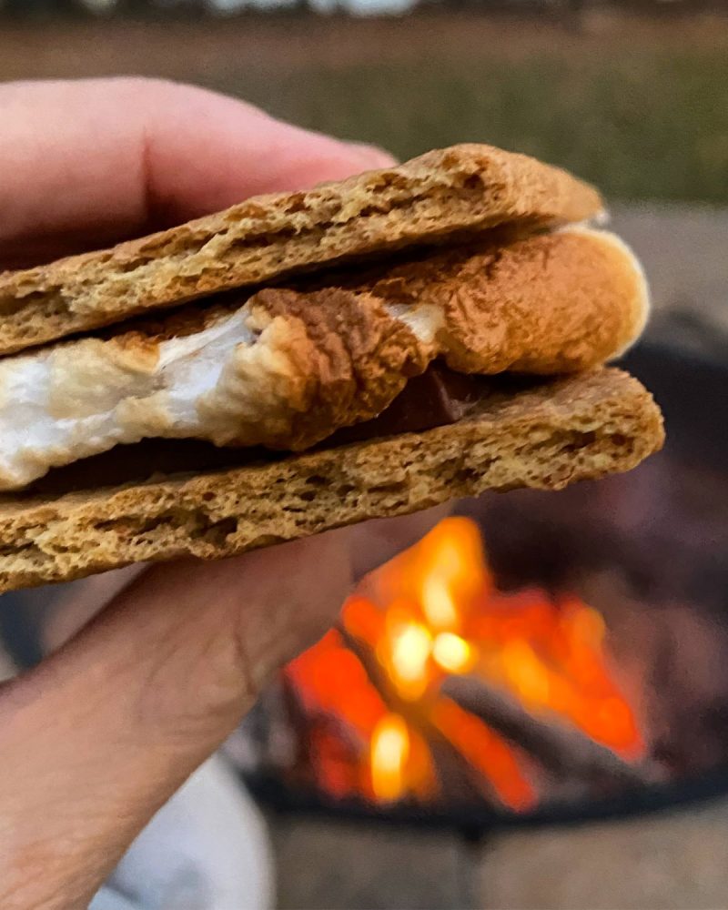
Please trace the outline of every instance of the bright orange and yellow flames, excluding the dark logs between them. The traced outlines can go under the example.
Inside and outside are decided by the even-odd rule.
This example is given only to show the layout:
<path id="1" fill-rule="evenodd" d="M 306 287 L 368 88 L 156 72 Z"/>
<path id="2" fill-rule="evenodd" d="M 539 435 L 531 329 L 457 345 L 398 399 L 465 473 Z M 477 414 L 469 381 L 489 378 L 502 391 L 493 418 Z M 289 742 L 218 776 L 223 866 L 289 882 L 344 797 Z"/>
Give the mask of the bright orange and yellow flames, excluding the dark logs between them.
<path id="1" fill-rule="evenodd" d="M 441 521 L 370 576 L 344 605 L 342 626 L 343 637 L 329 633 L 288 670 L 308 711 L 335 716 L 363 743 L 341 753 L 329 739 L 319 741 L 311 763 L 331 793 L 382 803 L 437 796 L 435 731 L 480 775 L 490 799 L 516 811 L 535 804 L 533 763 L 440 695 L 450 674 L 468 673 L 501 689 L 625 760 L 644 753 L 637 720 L 612 675 L 600 613 L 574 596 L 498 591 L 472 521 Z M 348 642 L 358 642 L 355 652 Z M 379 672 L 372 675 L 359 648 Z"/>

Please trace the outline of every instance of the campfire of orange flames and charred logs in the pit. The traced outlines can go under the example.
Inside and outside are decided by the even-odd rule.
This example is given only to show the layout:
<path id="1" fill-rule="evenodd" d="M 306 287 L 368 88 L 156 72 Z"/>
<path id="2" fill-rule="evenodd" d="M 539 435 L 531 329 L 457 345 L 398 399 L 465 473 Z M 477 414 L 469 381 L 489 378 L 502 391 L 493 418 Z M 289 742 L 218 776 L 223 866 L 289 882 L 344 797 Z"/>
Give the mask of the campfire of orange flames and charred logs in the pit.
<path id="1" fill-rule="evenodd" d="M 279 697 L 289 773 L 328 799 L 524 813 L 657 775 L 602 615 L 499 590 L 467 518 L 370 575 Z"/>

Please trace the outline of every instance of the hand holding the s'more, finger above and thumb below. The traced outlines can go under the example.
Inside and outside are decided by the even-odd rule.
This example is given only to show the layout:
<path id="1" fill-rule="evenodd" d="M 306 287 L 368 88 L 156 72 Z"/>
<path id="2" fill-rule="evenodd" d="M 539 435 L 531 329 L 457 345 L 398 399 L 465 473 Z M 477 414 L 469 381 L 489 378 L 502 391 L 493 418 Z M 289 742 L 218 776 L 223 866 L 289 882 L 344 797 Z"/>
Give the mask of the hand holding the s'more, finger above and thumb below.
<path id="1" fill-rule="evenodd" d="M 139 79 L 0 86 L 0 122 L 4 268 L 391 160 L 231 98 Z M 94 618 L 70 638 L 56 630 L 66 643 L 0 687 L 0 906 L 85 906 L 356 579 L 440 514 L 159 565 L 120 591 L 76 589 L 71 625 Z"/>

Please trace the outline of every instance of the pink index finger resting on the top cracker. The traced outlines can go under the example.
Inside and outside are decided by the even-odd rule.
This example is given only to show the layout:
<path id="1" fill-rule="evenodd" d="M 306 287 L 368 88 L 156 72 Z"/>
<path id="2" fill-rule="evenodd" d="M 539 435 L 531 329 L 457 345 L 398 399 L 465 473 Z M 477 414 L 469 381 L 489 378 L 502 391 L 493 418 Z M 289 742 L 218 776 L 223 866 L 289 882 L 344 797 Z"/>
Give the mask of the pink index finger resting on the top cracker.
<path id="1" fill-rule="evenodd" d="M 0 118 L 0 262 L 13 268 L 391 161 L 161 80 L 10 83 Z"/>

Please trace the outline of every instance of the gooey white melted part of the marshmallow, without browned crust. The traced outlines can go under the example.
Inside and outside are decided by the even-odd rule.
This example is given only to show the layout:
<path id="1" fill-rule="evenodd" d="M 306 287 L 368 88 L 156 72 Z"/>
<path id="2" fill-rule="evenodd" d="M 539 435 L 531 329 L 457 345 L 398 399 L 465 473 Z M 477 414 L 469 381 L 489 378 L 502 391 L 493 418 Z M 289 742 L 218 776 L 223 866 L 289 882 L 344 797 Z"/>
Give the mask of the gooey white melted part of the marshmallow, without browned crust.
<path id="1" fill-rule="evenodd" d="M 391 310 L 421 341 L 432 341 L 438 308 Z M 263 411 L 285 412 L 286 369 L 247 318 L 244 306 L 147 349 L 82 339 L 0 360 L 0 490 L 146 438 L 265 443 L 256 428 Z"/>

